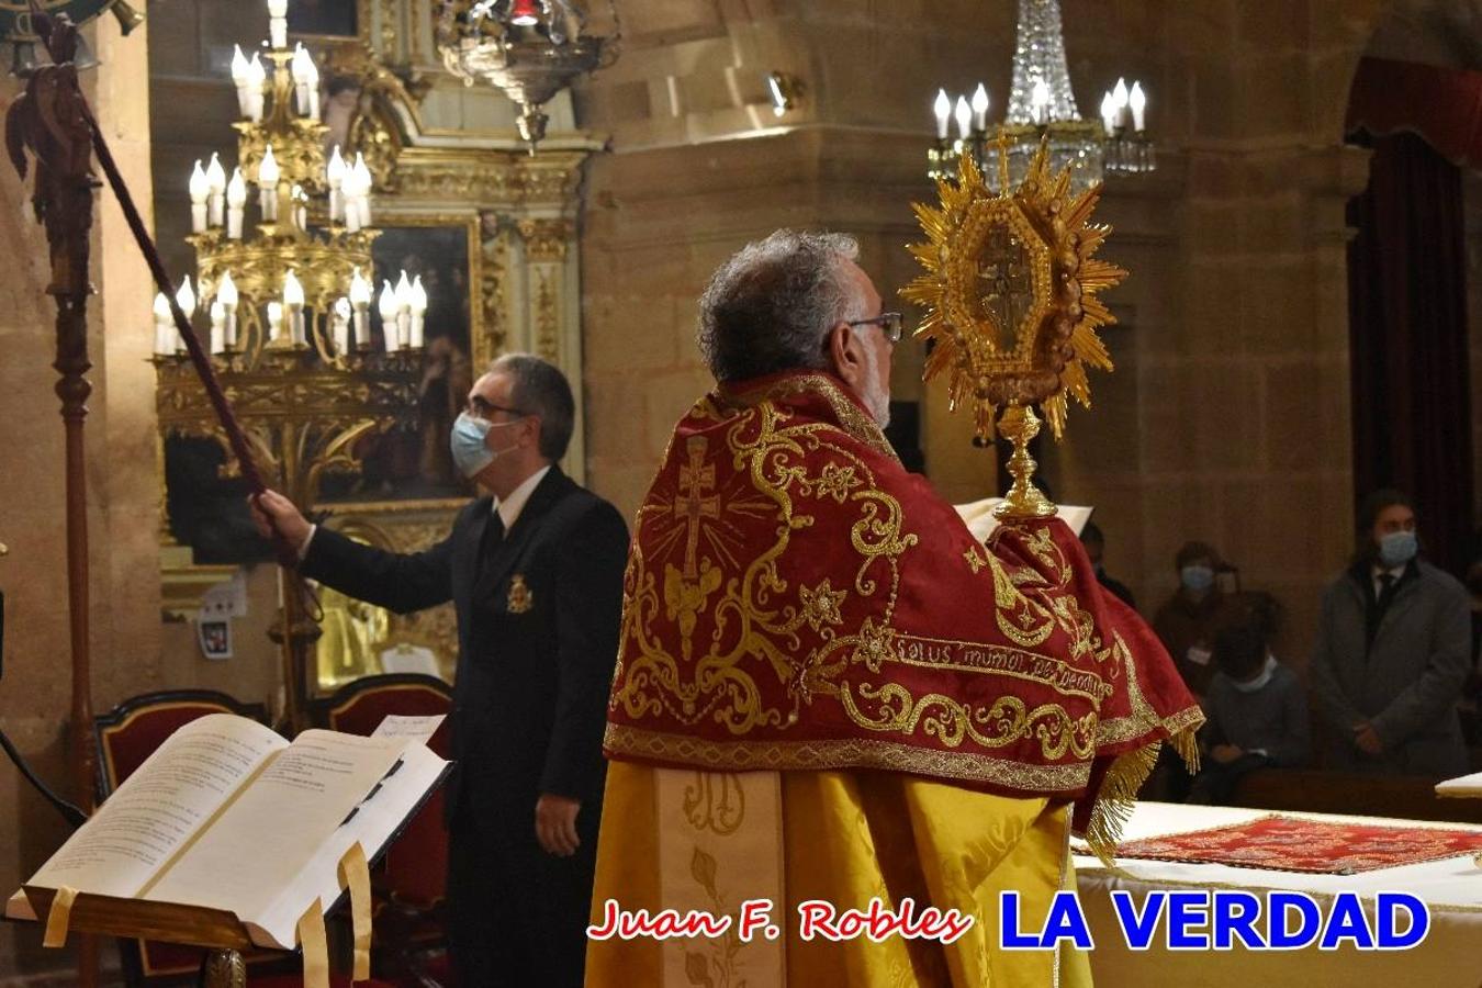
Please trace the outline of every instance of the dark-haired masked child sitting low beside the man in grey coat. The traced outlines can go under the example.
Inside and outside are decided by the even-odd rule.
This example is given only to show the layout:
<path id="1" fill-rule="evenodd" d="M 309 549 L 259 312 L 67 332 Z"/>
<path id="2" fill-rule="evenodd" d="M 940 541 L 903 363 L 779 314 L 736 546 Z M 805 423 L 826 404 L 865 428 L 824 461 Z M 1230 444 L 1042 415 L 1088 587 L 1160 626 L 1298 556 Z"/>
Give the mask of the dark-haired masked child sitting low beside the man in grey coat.
<path id="1" fill-rule="evenodd" d="M 1217 672 L 1205 696 L 1203 769 L 1190 803 L 1223 804 L 1246 772 L 1307 761 L 1310 733 L 1301 683 L 1276 661 L 1266 622 L 1249 616 L 1214 640 Z"/>

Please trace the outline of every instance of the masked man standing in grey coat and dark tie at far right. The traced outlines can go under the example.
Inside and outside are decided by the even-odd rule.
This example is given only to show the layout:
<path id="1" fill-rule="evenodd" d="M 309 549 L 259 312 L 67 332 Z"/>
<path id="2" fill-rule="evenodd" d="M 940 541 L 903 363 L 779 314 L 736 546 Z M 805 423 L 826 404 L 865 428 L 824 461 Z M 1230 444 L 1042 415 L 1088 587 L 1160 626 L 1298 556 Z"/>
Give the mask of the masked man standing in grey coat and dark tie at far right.
<path id="1" fill-rule="evenodd" d="M 1322 600 L 1312 686 L 1347 772 L 1446 778 L 1467 770 L 1457 699 L 1470 668 L 1461 584 L 1418 558 L 1414 502 L 1398 490 L 1359 510 L 1353 564 Z"/>

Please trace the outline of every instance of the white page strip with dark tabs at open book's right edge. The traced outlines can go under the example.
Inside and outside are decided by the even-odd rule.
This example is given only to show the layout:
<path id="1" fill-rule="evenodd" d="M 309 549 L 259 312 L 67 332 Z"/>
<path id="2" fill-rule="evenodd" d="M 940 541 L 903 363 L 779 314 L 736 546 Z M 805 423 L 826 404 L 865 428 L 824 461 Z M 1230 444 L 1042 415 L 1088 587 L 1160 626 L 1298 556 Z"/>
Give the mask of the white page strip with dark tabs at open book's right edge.
<path id="1" fill-rule="evenodd" d="M 381 779 L 375 792 L 356 807 L 354 816 L 345 821 L 325 841 L 314 858 L 304 865 L 296 880 L 283 889 L 277 901 L 247 923 L 247 932 L 258 944 L 292 945 L 298 917 L 304 914 L 314 896 L 328 912 L 339 898 L 339 859 L 356 841 L 373 861 L 391 835 L 402 827 L 412 809 L 422 801 L 427 791 L 437 782 L 448 761 L 437 757 L 422 744 L 406 747 L 402 763 L 391 775 Z"/>

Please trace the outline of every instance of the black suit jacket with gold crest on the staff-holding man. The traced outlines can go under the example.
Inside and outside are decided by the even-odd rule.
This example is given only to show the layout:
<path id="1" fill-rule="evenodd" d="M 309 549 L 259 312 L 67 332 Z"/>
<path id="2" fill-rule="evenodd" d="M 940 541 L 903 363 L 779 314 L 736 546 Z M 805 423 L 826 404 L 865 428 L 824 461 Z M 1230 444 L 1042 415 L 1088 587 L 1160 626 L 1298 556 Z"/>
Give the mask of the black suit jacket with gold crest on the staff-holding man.
<path id="1" fill-rule="evenodd" d="M 406 555 L 320 527 L 299 569 L 399 613 L 453 601 L 449 819 L 467 800 L 477 819 L 528 837 L 535 800 L 553 792 L 581 800 L 578 825 L 594 832 L 628 530 L 559 467 L 502 541 L 486 539 L 492 523 L 480 498 L 446 539 Z"/>

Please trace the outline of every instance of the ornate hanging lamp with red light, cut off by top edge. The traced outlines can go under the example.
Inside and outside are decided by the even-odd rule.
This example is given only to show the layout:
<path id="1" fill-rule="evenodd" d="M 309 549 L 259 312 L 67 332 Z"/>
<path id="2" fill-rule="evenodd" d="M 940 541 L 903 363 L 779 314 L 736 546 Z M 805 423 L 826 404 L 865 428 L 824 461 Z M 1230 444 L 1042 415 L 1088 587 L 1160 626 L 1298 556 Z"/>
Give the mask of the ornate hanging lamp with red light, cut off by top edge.
<path id="1" fill-rule="evenodd" d="M 541 107 L 578 76 L 617 61 L 621 25 L 609 7 L 614 36 L 602 37 L 585 33 L 575 0 L 443 0 L 437 47 L 465 84 L 488 80 L 520 107 L 520 136 L 534 154 L 548 121 Z"/>

